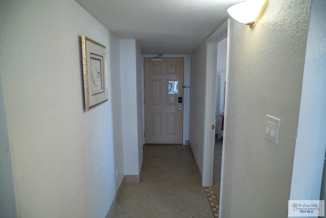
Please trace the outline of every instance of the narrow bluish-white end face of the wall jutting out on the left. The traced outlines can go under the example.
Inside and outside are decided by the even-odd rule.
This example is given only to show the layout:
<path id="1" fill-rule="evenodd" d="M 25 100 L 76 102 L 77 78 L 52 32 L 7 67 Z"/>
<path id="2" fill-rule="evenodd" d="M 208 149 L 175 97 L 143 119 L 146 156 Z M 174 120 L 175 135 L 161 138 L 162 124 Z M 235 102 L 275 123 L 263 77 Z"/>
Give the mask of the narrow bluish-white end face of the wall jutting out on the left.
<path id="1" fill-rule="evenodd" d="M 120 40 L 121 103 L 123 114 L 122 134 L 125 175 L 139 175 L 140 168 L 138 144 L 137 52 L 139 53 L 139 46 L 135 39 Z"/>

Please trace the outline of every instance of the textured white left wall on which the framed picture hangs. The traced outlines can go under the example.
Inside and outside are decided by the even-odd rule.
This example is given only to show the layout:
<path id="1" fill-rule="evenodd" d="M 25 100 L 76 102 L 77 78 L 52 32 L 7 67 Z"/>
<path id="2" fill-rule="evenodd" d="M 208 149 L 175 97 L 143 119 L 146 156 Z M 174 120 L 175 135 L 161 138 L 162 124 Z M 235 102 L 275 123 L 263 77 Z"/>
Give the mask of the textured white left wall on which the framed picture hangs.
<path id="1" fill-rule="evenodd" d="M 18 217 L 105 217 L 122 179 L 115 179 L 123 156 L 113 130 L 120 106 L 110 88 L 108 102 L 85 112 L 80 35 L 106 46 L 109 87 L 119 76 L 112 75 L 118 40 L 72 0 L 0 4 Z"/>

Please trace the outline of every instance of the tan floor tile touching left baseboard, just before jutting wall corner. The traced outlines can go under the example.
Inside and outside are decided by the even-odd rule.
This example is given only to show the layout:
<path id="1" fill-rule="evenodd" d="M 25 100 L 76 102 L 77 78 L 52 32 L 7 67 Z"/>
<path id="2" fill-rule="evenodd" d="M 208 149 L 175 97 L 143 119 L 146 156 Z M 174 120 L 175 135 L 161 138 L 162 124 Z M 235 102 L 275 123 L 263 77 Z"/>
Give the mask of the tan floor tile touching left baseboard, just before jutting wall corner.
<path id="1" fill-rule="evenodd" d="M 142 183 L 123 184 L 117 204 L 130 215 L 141 211 L 160 199 L 154 192 L 146 189 Z"/>

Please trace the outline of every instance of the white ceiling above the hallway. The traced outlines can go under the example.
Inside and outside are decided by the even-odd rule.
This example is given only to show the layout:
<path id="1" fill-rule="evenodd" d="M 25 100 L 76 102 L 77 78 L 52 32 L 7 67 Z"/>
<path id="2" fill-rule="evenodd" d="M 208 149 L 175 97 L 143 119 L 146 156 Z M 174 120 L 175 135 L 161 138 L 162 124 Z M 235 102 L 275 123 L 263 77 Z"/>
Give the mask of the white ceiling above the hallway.
<path id="1" fill-rule="evenodd" d="M 137 39 L 142 54 L 191 54 L 243 0 L 75 0 L 121 39 Z"/>

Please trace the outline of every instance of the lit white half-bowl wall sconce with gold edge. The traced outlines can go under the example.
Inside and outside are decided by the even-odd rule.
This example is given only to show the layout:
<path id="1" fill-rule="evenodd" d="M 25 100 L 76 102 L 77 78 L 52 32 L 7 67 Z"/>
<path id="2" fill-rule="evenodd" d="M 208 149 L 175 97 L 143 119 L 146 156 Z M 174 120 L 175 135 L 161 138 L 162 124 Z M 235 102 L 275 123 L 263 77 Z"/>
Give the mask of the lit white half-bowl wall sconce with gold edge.
<path id="1" fill-rule="evenodd" d="M 247 0 L 231 6 L 227 11 L 233 19 L 252 28 L 263 14 L 267 2 L 268 0 Z"/>

